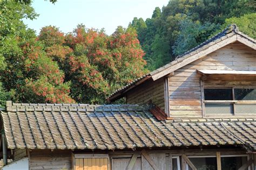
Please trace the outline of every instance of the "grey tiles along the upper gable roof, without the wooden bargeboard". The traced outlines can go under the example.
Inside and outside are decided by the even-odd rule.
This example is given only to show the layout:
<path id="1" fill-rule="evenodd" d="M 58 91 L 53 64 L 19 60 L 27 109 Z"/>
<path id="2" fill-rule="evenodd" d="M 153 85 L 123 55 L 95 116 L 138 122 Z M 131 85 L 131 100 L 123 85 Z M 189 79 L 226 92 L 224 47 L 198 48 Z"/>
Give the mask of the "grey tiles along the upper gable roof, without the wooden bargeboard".
<path id="1" fill-rule="evenodd" d="M 122 94 L 126 89 L 129 89 L 134 84 L 136 84 L 140 80 L 144 79 L 144 77 L 156 75 L 157 73 L 165 70 L 166 68 L 170 68 L 173 65 L 175 65 L 176 63 L 181 62 L 184 59 L 186 59 L 186 58 L 188 58 L 188 57 L 190 57 L 190 56 L 192 56 L 194 54 L 197 54 L 197 53 L 203 51 L 204 49 L 206 49 L 206 48 L 208 48 L 208 47 L 210 47 L 210 46 L 212 46 L 214 44 L 217 44 L 220 41 L 223 41 L 223 40 L 227 39 L 228 37 L 233 36 L 234 34 L 239 34 L 240 36 L 245 37 L 246 39 L 248 39 L 248 40 L 250 40 L 250 41 L 252 41 L 254 43 L 256 42 L 251 37 L 248 37 L 246 34 L 240 32 L 238 30 L 237 25 L 231 24 L 225 30 L 223 30 L 222 32 L 216 34 L 212 38 L 202 42 L 201 44 L 199 44 L 198 46 L 190 49 L 189 51 L 185 52 L 184 54 L 177 56 L 175 60 L 173 60 L 170 63 L 167 63 L 167 65 L 165 65 L 163 67 L 160 67 L 160 68 L 158 68 L 156 70 L 153 70 L 149 74 L 146 74 L 146 75 L 143 75 L 143 76 L 139 77 L 138 79 L 132 81 L 131 83 L 129 83 L 126 86 L 124 86 L 123 88 L 117 89 L 109 97 L 107 97 L 107 100 L 109 100 L 109 101 L 114 100 L 114 98 L 117 96 L 117 94 Z"/>

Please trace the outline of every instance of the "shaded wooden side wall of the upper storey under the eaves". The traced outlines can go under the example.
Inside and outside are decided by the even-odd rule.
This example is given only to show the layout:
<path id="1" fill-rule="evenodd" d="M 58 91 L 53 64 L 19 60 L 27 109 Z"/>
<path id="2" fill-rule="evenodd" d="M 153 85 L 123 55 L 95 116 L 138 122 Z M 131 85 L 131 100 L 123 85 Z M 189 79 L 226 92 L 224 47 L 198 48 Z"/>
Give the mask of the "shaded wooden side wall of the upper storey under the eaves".
<path id="1" fill-rule="evenodd" d="M 147 81 L 126 94 L 127 104 L 146 104 L 149 101 L 165 110 L 164 79 Z"/>

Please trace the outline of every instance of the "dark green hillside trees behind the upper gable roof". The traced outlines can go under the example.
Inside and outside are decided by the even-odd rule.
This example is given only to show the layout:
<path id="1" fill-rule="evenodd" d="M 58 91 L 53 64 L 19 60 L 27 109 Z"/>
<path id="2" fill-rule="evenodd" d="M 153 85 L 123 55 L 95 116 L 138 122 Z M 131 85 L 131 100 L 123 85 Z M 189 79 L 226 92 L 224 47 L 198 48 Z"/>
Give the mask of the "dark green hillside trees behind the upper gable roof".
<path id="1" fill-rule="evenodd" d="M 170 0 L 151 18 L 134 18 L 129 27 L 137 30 L 147 68 L 153 70 L 231 23 L 255 37 L 255 7 L 253 0 Z"/>

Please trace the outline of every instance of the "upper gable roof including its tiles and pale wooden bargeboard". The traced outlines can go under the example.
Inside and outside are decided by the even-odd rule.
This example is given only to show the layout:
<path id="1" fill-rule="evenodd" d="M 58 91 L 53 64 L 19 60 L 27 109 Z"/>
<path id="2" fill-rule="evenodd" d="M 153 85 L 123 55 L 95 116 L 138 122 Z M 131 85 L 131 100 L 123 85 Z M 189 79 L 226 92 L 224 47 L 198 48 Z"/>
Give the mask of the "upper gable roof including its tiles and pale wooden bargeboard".
<path id="1" fill-rule="evenodd" d="M 222 32 L 213 36 L 212 38 L 185 52 L 183 55 L 177 56 L 175 60 L 168 63 L 167 65 L 160 67 L 150 72 L 149 74 L 139 77 L 138 79 L 132 81 L 123 88 L 117 89 L 109 97 L 107 97 L 107 101 L 111 102 L 123 97 L 124 93 L 138 86 L 140 83 L 144 82 L 142 80 L 144 80 L 145 77 L 147 77 L 146 80 L 158 80 L 161 77 L 166 76 L 172 73 L 173 71 L 235 41 L 239 41 L 242 44 L 245 44 L 253 49 L 256 49 L 256 40 L 240 32 L 238 30 L 237 25 L 232 24 Z"/>

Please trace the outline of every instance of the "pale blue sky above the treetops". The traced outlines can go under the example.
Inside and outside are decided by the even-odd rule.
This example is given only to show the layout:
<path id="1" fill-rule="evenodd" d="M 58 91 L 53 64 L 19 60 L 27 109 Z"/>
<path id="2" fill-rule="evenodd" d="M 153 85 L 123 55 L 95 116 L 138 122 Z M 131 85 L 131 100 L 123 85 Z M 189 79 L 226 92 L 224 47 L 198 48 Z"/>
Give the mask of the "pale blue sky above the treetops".
<path id="1" fill-rule="evenodd" d="M 169 0 L 34 0 L 33 8 L 40 15 L 36 20 L 24 20 L 39 33 L 43 26 L 55 25 L 64 33 L 71 32 L 77 24 L 106 30 L 112 34 L 118 25 L 127 27 L 133 17 L 143 19 L 152 16 L 154 8 L 160 9 Z"/>

